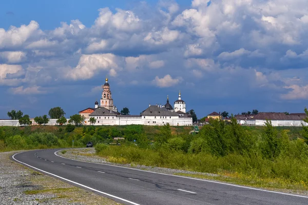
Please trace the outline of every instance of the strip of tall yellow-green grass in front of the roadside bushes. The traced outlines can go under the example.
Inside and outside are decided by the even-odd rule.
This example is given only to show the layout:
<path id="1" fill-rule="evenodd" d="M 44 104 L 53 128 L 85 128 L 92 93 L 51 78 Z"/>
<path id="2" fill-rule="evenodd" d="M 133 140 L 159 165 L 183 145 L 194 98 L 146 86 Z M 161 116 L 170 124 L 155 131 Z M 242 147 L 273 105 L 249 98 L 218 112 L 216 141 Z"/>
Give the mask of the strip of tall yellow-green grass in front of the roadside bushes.
<path id="1" fill-rule="evenodd" d="M 279 157 L 276 161 L 263 159 L 260 155 L 228 154 L 216 157 L 206 153 L 188 154 L 170 150 L 153 151 L 138 147 L 109 146 L 99 156 L 109 162 L 130 164 L 132 167 L 145 165 L 202 173 L 218 176 L 187 175 L 198 178 L 222 180 L 239 185 L 308 190 L 308 159 Z"/>

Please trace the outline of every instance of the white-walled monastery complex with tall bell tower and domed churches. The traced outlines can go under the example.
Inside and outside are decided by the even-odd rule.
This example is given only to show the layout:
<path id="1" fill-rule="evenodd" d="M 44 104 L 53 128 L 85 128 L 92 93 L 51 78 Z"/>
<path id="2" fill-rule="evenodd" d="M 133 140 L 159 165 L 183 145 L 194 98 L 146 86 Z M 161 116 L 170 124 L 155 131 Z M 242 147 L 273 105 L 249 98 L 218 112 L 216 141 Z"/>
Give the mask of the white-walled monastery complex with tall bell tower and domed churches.
<path id="1" fill-rule="evenodd" d="M 102 88 L 100 104 L 96 101 L 94 108 L 87 108 L 79 112 L 80 115 L 86 118 L 86 125 L 90 125 L 90 117 L 96 119 L 94 125 L 163 126 L 167 123 L 170 126 L 192 125 L 192 117 L 186 114 L 186 104 L 181 98 L 181 92 L 179 92 L 178 100 L 174 103 L 174 108 L 169 104 L 169 97 L 167 97 L 167 103 L 163 106 L 149 105 L 140 115 L 121 115 L 113 104 L 108 78 L 106 78 L 106 83 Z"/>

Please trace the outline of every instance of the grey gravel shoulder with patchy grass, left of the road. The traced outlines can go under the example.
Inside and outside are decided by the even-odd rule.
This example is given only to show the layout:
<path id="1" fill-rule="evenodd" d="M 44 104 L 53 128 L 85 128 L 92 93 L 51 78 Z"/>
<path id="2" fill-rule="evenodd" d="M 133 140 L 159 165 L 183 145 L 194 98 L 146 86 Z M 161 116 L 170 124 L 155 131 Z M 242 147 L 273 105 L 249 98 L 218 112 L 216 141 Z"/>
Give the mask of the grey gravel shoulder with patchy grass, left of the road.
<path id="1" fill-rule="evenodd" d="M 0 204 L 120 204 L 10 160 L 18 152 L 0 153 Z"/>

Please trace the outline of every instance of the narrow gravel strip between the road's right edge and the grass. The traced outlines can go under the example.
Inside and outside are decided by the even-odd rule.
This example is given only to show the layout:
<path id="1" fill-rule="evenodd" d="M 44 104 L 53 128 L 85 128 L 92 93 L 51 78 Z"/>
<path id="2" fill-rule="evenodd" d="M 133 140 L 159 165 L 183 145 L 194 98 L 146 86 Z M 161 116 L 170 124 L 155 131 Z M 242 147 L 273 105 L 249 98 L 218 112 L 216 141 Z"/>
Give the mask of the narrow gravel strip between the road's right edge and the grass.
<path id="1" fill-rule="evenodd" d="M 136 165 L 133 163 L 119 164 L 119 163 L 108 162 L 105 158 L 95 155 L 94 148 L 67 149 L 63 153 L 58 152 L 58 154 L 63 157 L 81 160 L 81 161 L 89 161 L 89 162 L 95 162 L 95 163 L 134 168 L 134 169 L 139 169 L 139 170 L 146 170 L 146 171 L 151 171 L 151 172 L 158 172 L 158 173 L 171 174 L 171 175 L 180 175 L 180 176 L 187 176 L 190 178 L 208 179 L 211 181 L 219 181 L 219 182 L 237 184 L 236 182 L 227 180 L 226 177 L 218 175 L 218 174 L 185 171 L 185 170 L 177 170 L 177 169 L 169 169 L 169 168 L 161 168 L 161 167 L 150 167 L 150 166 L 144 166 L 144 165 Z M 255 186 L 255 188 L 258 188 L 258 187 Z M 277 192 L 288 193 L 288 194 L 308 196 L 308 191 L 304 191 L 304 190 L 277 189 L 277 188 L 267 188 L 267 187 L 265 188 L 260 187 L 260 189 L 269 190 L 269 191 L 277 191 Z"/>

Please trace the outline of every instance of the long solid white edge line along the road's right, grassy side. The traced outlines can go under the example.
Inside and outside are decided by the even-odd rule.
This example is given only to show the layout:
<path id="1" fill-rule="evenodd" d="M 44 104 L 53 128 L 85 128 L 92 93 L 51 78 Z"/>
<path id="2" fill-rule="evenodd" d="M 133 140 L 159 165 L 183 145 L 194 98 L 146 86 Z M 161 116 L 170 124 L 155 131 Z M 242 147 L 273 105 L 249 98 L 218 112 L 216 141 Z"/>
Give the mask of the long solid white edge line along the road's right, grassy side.
<path id="1" fill-rule="evenodd" d="M 78 159 L 71 159 L 71 158 L 63 157 L 63 156 L 60 156 L 60 155 L 56 154 L 57 152 L 60 152 L 60 151 L 62 151 L 62 150 L 55 151 L 54 154 L 56 156 L 62 157 L 64 159 L 70 159 L 70 160 L 74 160 L 74 161 L 82 161 L 82 160 L 78 160 Z M 124 168 L 124 169 L 129 169 L 129 170 L 136 170 L 136 171 L 140 171 L 140 172 L 149 172 L 149 173 L 162 174 L 162 175 L 167 175 L 167 176 L 175 176 L 175 177 L 181 177 L 181 178 L 186 178 L 186 179 L 193 179 L 193 180 L 198 180 L 198 181 L 206 181 L 206 182 L 211 182 L 211 183 L 218 183 L 220 185 L 228 185 L 228 186 L 232 186 L 232 187 L 240 187 L 240 188 L 244 188 L 244 189 L 251 189 L 251 190 L 262 191 L 262 192 L 270 192 L 270 193 L 283 194 L 283 195 L 288 195 L 288 196 L 297 196 L 297 197 L 308 198 L 308 196 L 301 196 L 301 195 L 287 194 L 287 193 L 282 193 L 282 192 L 268 191 L 268 190 L 257 189 L 257 188 L 252 188 L 252 187 L 243 187 L 243 186 L 239 186 L 239 185 L 232 185 L 230 183 L 223 183 L 223 182 L 218 182 L 218 181 L 210 181 L 210 180 L 206 180 L 206 179 L 197 179 L 197 178 L 190 178 L 190 177 L 187 177 L 187 176 L 178 176 L 178 175 L 164 174 L 164 173 L 159 173 L 159 172 L 151 172 L 151 171 L 146 171 L 146 170 L 137 170 L 137 169 L 128 168 L 128 167 L 121 167 L 121 166 L 116 166 L 116 165 L 107 165 L 107 164 L 103 164 L 103 163 L 90 162 L 90 161 L 82 161 L 82 162 L 95 163 L 97 165 L 104 165 L 104 166 L 110 166 L 110 167 L 119 167 L 119 168 Z"/>

